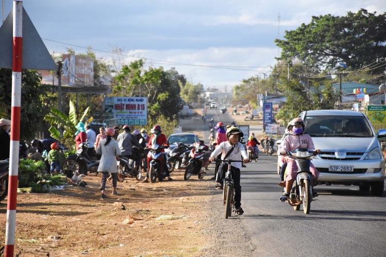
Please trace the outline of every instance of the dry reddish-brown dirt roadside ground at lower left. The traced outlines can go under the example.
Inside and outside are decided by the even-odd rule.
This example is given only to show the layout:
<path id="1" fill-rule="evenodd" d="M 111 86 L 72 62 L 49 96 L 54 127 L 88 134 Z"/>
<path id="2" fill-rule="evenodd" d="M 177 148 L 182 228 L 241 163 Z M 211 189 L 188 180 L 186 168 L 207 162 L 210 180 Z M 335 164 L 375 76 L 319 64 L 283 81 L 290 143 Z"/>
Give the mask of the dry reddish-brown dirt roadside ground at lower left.
<path id="1" fill-rule="evenodd" d="M 87 256 L 199 255 L 197 251 L 205 243 L 198 234 L 203 203 L 212 184 L 197 178 L 185 182 L 182 171 L 174 171 L 172 177 L 173 182 L 155 184 L 134 179 L 118 182 L 120 195 L 110 194 L 107 199 L 99 197 L 101 174 L 86 176 L 86 188 L 18 194 L 15 253 L 23 249 L 24 256 L 81 256 L 86 250 Z M 111 182 L 107 193 L 111 193 Z M 0 204 L 3 242 L 6 203 L 5 200 Z M 189 218 L 155 220 L 161 215 Z M 126 219 L 133 221 L 123 224 Z M 48 239 L 49 236 L 59 238 Z"/>

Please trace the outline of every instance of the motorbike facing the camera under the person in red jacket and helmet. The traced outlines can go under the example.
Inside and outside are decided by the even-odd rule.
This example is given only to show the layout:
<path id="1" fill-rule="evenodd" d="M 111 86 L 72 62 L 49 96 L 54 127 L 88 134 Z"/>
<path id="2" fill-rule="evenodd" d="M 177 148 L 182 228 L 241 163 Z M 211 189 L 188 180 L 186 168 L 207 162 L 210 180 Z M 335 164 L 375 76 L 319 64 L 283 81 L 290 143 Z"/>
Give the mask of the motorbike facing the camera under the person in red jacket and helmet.
<path id="1" fill-rule="evenodd" d="M 152 144 L 147 149 L 149 153 L 147 154 L 147 170 L 149 172 L 150 182 L 155 183 L 157 178 L 159 181 L 163 181 L 166 177 L 166 172 L 164 170 L 164 152 L 162 149 L 167 148 L 167 146 L 160 146 L 157 144 Z"/>

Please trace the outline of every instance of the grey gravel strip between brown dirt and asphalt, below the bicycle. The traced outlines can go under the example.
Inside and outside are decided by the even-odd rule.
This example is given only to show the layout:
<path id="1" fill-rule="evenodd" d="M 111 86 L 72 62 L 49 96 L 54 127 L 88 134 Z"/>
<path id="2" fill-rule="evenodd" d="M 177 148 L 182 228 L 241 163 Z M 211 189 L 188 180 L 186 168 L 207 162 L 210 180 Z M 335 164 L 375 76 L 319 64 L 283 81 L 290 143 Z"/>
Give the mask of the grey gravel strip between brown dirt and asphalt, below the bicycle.
<path id="1" fill-rule="evenodd" d="M 214 183 L 213 183 L 214 184 Z M 213 189 L 207 197 L 206 218 L 203 219 L 202 233 L 207 244 L 201 249 L 200 256 L 253 256 L 256 246 L 242 221 L 242 215 L 232 213 L 225 219 L 225 206 L 222 202 L 222 190 Z"/>

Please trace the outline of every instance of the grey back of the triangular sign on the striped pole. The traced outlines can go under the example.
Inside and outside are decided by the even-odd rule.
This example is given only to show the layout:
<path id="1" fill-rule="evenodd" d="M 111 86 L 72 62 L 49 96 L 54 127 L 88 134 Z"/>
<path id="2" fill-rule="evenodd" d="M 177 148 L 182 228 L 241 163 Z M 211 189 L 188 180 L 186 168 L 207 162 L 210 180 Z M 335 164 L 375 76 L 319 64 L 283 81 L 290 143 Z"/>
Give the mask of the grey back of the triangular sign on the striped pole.
<path id="1" fill-rule="evenodd" d="M 0 68 L 12 68 L 13 46 L 13 10 L 0 27 Z M 23 7 L 23 52 L 22 69 L 55 70 L 52 60 L 42 38 Z"/>

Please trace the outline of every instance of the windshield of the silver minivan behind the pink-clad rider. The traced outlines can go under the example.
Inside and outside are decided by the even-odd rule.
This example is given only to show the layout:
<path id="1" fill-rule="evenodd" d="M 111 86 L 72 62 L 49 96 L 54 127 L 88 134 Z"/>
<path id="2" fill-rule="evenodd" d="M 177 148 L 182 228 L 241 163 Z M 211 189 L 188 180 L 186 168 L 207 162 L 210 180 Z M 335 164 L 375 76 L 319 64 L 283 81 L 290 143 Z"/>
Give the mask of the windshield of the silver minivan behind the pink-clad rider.
<path id="1" fill-rule="evenodd" d="M 373 132 L 364 116 L 306 116 L 305 132 L 311 136 L 372 137 Z"/>

